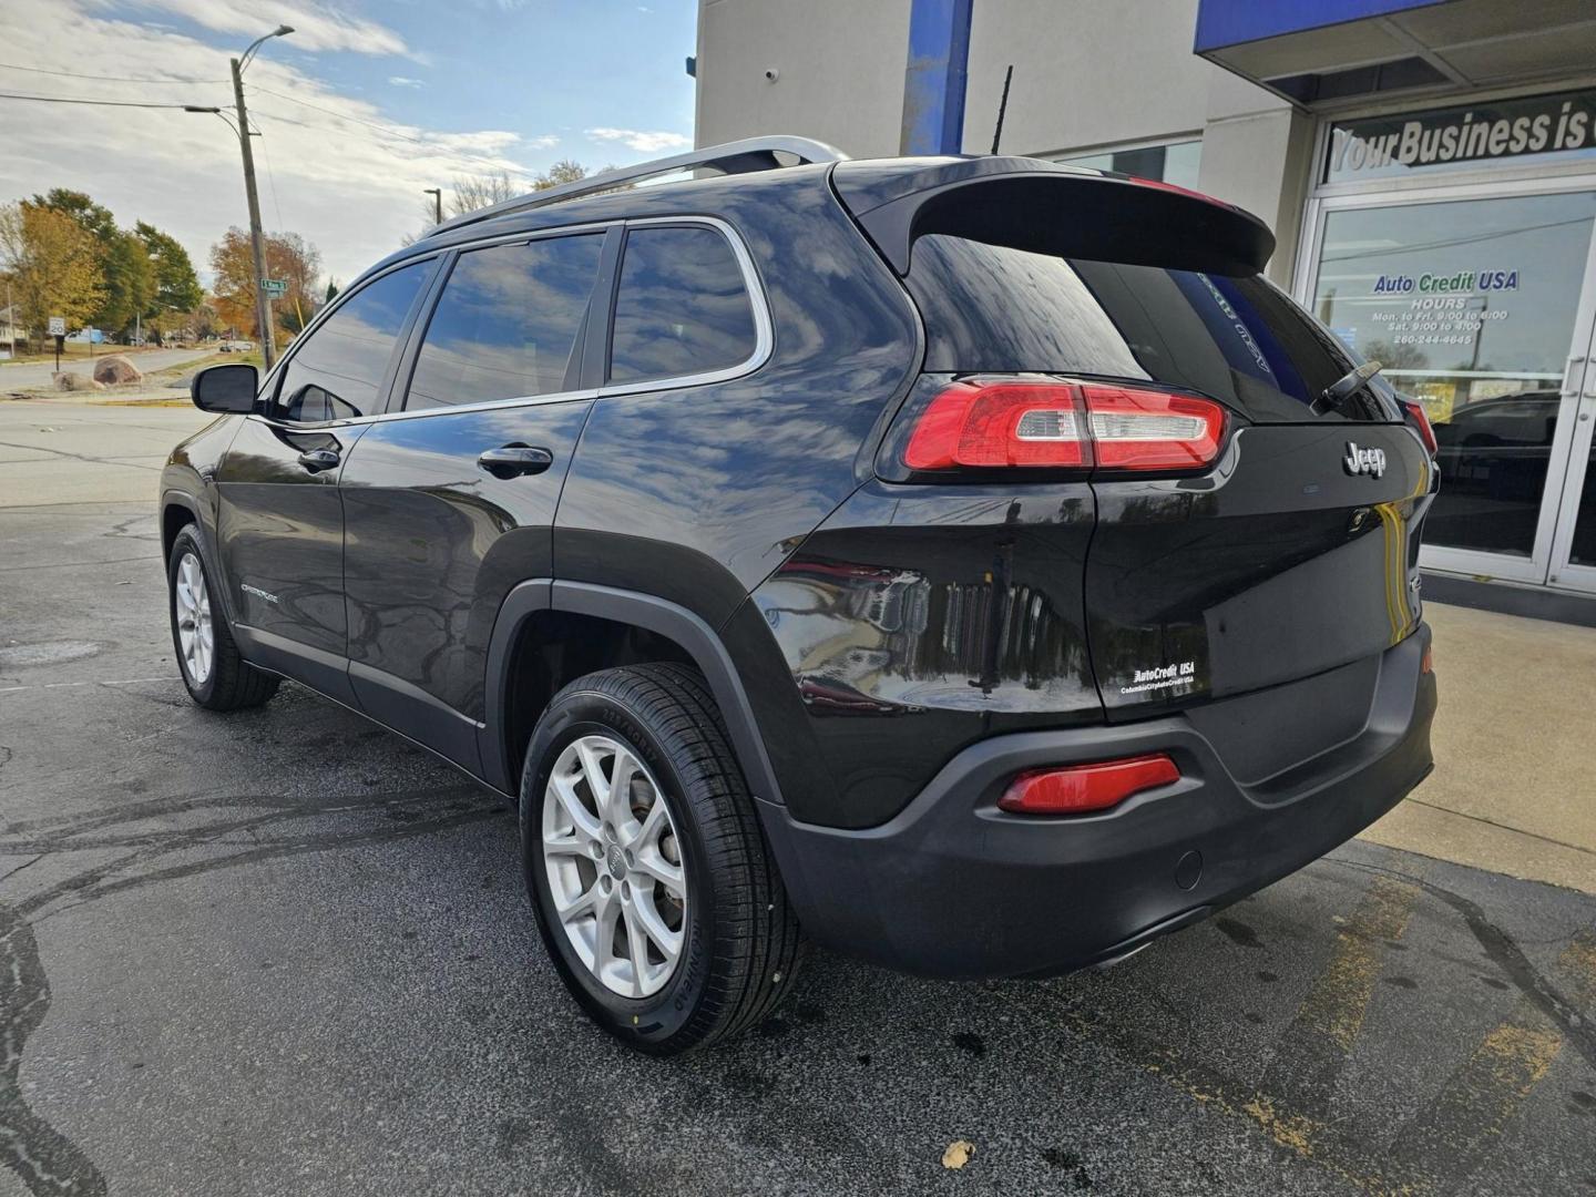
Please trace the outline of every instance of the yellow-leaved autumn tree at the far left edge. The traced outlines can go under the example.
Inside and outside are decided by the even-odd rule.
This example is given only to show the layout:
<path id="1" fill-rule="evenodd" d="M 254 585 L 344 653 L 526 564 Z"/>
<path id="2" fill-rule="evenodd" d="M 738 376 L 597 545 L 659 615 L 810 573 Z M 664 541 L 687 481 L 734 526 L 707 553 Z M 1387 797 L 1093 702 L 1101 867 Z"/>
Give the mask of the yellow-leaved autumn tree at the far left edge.
<path id="1" fill-rule="evenodd" d="M 105 300 L 97 243 L 53 207 L 27 201 L 0 207 L 0 263 L 30 334 L 41 337 L 51 316 L 81 327 Z"/>

